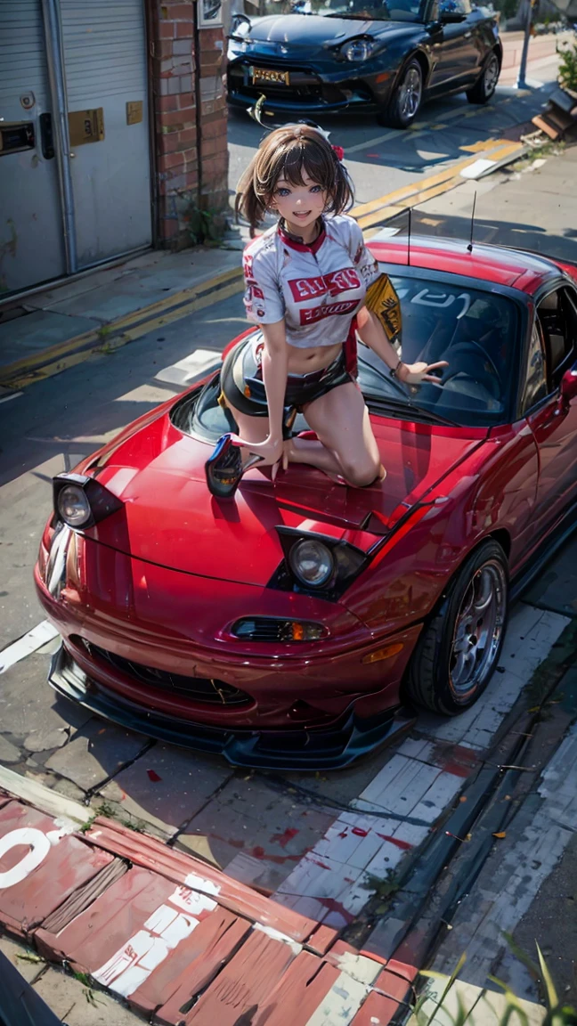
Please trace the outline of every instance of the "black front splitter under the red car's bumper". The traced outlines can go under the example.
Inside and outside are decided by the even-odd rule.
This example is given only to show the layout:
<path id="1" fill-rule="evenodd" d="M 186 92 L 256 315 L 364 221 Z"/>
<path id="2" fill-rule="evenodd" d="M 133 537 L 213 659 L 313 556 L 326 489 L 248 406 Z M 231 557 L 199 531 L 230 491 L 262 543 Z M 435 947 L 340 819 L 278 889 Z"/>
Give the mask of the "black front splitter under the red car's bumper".
<path id="1" fill-rule="evenodd" d="M 416 718 L 397 708 L 367 720 L 348 713 L 328 729 L 231 731 L 204 726 L 119 698 L 86 676 L 64 645 L 52 657 L 48 683 L 60 695 L 120 726 L 172 745 L 223 755 L 233 766 L 259 770 L 341 770 L 396 739 L 413 726 Z"/>

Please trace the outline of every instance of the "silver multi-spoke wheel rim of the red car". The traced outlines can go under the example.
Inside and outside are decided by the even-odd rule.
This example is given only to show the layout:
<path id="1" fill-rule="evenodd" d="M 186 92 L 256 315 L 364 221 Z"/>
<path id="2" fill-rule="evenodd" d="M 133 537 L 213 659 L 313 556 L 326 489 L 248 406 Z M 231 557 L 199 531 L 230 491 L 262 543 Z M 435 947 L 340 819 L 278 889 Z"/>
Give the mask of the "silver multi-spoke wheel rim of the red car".
<path id="1" fill-rule="evenodd" d="M 491 673 L 501 645 L 507 582 L 498 560 L 484 563 L 471 578 L 455 623 L 450 657 L 452 690 L 464 701 Z"/>

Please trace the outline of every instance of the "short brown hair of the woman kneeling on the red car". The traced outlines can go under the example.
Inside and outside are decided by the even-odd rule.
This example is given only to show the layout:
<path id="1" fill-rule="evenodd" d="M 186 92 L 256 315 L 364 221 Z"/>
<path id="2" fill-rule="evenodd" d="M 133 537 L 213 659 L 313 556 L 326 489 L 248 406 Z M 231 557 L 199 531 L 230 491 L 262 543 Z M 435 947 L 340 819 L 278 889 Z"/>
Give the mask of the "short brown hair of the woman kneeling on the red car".
<path id="1" fill-rule="evenodd" d="M 236 187 L 235 213 L 251 225 L 251 237 L 264 219 L 279 177 L 302 186 L 303 172 L 326 191 L 328 213 L 342 213 L 352 206 L 352 183 L 325 136 L 310 125 L 283 125 L 265 135 Z"/>

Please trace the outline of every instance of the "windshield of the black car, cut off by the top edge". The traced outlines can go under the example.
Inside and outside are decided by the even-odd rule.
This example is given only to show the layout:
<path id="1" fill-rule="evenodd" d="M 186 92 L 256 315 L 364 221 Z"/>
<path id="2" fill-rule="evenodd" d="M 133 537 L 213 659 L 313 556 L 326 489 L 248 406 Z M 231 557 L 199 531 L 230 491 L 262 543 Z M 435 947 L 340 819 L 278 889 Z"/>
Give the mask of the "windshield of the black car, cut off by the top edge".
<path id="1" fill-rule="evenodd" d="M 267 14 L 322 14 L 325 17 L 369 18 L 374 22 L 419 22 L 419 0 L 244 0 L 248 16 Z"/>

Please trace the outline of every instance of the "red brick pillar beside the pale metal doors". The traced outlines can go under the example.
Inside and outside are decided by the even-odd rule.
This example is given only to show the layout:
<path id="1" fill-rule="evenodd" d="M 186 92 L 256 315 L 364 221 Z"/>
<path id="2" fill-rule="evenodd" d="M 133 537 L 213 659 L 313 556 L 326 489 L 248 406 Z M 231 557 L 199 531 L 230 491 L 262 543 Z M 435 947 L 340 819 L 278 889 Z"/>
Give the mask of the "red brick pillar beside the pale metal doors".
<path id="1" fill-rule="evenodd" d="M 191 244 L 192 208 L 228 206 L 226 43 L 224 29 L 199 29 L 195 52 L 193 0 L 149 3 L 158 243 L 184 248 Z"/>

